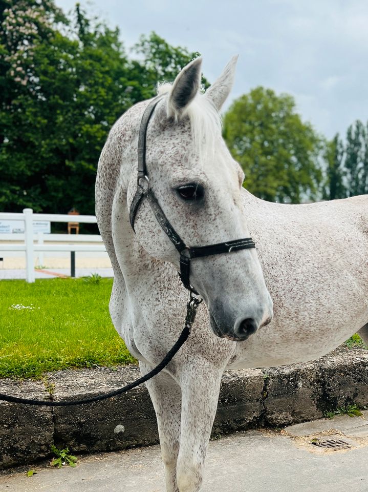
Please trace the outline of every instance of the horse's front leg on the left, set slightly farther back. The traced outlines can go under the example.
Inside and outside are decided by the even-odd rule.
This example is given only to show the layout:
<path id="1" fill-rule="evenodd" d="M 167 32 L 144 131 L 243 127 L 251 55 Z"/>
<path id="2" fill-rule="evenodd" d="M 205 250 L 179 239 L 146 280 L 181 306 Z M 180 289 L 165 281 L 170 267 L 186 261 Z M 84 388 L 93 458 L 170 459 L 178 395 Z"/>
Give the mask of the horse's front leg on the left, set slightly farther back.
<path id="1" fill-rule="evenodd" d="M 152 367 L 139 363 L 142 374 Z M 167 492 L 179 492 L 177 485 L 177 459 L 180 440 L 181 390 L 168 374 L 161 372 L 146 382 L 155 408 L 160 436 L 162 460 L 165 465 Z"/>

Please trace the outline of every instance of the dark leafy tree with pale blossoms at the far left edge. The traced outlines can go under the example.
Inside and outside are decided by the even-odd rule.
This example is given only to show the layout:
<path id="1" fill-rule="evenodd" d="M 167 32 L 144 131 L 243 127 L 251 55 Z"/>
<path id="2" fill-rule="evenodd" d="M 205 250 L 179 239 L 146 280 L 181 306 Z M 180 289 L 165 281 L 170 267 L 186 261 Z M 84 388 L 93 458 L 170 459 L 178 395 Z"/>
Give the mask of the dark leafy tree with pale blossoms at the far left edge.
<path id="1" fill-rule="evenodd" d="M 49 0 L 0 1 L 0 173 L 2 185 L 0 206 L 17 204 L 15 210 L 28 206 L 27 181 L 29 167 L 22 158 L 31 131 L 30 122 L 24 125 L 23 101 L 31 95 L 38 98 L 37 77 L 34 76 L 34 48 L 48 43 L 51 23 L 59 22 L 61 12 Z M 37 128 L 37 126 L 36 126 Z M 28 156 L 33 165 L 34 156 Z"/>

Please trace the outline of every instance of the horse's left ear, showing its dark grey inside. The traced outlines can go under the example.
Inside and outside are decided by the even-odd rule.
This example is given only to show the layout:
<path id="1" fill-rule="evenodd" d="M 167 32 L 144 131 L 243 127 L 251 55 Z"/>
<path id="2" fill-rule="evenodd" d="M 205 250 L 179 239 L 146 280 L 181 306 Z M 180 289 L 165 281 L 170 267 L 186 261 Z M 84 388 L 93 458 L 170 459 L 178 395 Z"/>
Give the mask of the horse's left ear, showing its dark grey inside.
<path id="1" fill-rule="evenodd" d="M 202 58 L 191 61 L 179 73 L 167 100 L 167 116 L 179 119 L 194 99 L 201 84 Z"/>

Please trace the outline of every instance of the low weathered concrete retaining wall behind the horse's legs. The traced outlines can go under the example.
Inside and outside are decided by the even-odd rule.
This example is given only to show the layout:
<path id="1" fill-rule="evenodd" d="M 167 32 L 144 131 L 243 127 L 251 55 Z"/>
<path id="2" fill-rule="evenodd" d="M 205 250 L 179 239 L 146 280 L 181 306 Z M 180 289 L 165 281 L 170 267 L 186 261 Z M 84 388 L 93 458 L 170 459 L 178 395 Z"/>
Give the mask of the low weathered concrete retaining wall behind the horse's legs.
<path id="1" fill-rule="evenodd" d="M 0 393 L 55 401 L 79 399 L 122 387 L 138 377 L 135 366 L 60 371 L 49 374 L 46 384 L 0 380 Z M 227 371 L 213 435 L 317 419 L 325 411 L 351 403 L 368 404 L 368 351 L 362 348 L 340 347 L 305 364 Z M 85 453 L 157 442 L 156 417 L 145 386 L 102 402 L 70 407 L 0 402 L 0 468 L 45 459 L 53 443 Z"/>

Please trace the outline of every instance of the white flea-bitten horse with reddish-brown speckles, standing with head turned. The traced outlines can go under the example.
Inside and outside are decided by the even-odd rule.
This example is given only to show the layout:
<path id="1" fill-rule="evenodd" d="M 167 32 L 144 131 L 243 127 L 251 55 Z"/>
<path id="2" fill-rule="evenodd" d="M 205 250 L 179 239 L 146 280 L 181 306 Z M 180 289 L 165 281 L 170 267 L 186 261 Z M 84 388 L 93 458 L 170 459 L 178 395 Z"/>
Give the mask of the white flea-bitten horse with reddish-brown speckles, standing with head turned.
<path id="1" fill-rule="evenodd" d="M 172 86 L 161 87 L 147 130 L 151 188 L 186 243 L 251 235 L 257 246 L 191 262 L 190 281 L 204 303 L 187 342 L 147 383 L 167 492 L 201 487 L 225 368 L 312 360 L 358 330 L 368 341 L 368 196 L 284 205 L 242 188 L 244 174 L 225 146 L 219 117 L 235 63 L 200 94 L 201 59 L 192 61 Z M 137 212 L 136 234 L 129 223 L 147 104 L 113 126 L 96 182 L 98 224 L 114 268 L 110 312 L 142 374 L 178 339 L 187 302 L 179 253 L 147 200 Z M 249 319 L 257 329 L 251 336 L 243 323 Z"/>

